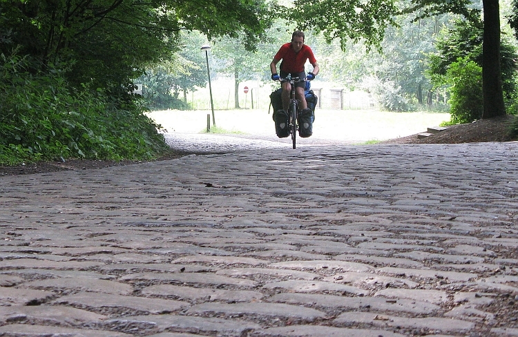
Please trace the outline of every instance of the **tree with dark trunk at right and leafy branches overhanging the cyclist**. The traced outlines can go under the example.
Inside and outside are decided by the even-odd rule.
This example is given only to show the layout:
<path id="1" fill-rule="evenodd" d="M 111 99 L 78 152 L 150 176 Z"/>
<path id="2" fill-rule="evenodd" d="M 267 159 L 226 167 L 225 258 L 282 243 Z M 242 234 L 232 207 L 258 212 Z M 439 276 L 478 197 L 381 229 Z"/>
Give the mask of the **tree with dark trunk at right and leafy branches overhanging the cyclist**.
<path id="1" fill-rule="evenodd" d="M 476 20 L 480 12 L 471 0 L 411 0 L 410 3 L 396 3 L 396 0 L 296 0 L 295 6 L 301 10 L 294 12 L 291 19 L 296 20 L 300 27 L 314 26 L 327 39 L 337 38 L 343 44 L 347 38 L 355 41 L 365 39 L 367 44 L 378 48 L 385 28 L 394 24 L 393 15 L 412 12 L 416 13 L 416 19 L 420 19 L 454 13 Z M 490 118 L 506 114 L 499 64 L 499 0 L 483 0 L 483 10 L 483 118 Z"/>

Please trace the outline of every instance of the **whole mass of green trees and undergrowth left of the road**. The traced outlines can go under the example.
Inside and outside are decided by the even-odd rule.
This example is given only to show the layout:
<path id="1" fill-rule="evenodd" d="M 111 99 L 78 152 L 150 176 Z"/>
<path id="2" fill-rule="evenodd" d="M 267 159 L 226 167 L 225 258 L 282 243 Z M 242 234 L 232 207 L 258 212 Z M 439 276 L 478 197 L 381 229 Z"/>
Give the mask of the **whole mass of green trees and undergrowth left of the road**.
<path id="1" fill-rule="evenodd" d="M 0 55 L 26 57 L 0 60 L 0 162 L 162 151 L 157 126 L 128 95 L 133 79 L 171 63 L 182 30 L 242 35 L 253 50 L 270 8 L 265 0 L 1 0 Z M 189 77 L 186 64 L 174 74 Z M 182 84 L 184 95 L 197 83 Z"/>

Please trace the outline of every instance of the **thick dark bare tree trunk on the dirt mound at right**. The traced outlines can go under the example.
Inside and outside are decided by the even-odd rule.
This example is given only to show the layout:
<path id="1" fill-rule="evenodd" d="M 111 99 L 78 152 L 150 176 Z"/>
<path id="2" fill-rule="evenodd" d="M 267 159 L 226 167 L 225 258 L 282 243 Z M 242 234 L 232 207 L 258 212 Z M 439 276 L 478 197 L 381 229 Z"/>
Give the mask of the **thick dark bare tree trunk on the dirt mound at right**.
<path id="1" fill-rule="evenodd" d="M 482 49 L 483 119 L 506 115 L 500 69 L 500 8 L 498 1 L 482 1 L 484 12 Z"/>

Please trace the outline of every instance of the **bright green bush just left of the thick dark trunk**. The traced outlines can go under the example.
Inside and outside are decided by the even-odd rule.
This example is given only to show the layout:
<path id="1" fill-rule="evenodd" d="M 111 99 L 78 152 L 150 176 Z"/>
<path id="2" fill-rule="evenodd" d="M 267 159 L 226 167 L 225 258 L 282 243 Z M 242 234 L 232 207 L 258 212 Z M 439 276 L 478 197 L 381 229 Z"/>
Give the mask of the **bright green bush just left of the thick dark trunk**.
<path id="1" fill-rule="evenodd" d="M 450 88 L 449 124 L 470 123 L 482 117 L 482 68 L 466 58 L 458 59 L 448 68 Z"/>

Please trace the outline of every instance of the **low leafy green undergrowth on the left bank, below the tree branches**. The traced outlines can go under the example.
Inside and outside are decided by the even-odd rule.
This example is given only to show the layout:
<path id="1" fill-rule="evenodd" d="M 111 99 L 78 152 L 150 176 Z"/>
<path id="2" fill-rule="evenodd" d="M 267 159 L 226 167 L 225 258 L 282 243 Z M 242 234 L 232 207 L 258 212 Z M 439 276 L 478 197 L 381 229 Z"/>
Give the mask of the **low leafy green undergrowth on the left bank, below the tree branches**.
<path id="1" fill-rule="evenodd" d="M 26 68 L 26 59 L 1 55 L 0 163 L 149 159 L 165 150 L 137 103 L 86 85 L 71 89 L 61 68 L 35 75 Z"/>

